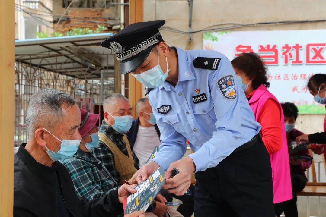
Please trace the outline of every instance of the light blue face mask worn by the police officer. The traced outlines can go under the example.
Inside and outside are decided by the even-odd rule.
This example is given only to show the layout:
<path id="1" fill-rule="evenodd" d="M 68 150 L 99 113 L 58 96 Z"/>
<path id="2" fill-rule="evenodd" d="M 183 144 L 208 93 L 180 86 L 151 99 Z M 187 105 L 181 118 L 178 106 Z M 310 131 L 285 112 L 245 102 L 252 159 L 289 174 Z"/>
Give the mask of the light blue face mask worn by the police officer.
<path id="1" fill-rule="evenodd" d="M 166 59 L 166 68 L 168 68 L 168 58 L 165 57 Z M 150 70 L 147 70 L 141 74 L 136 74 L 134 76 L 139 82 L 141 82 L 143 85 L 145 85 L 148 88 L 158 88 L 161 86 L 165 79 L 169 75 L 170 69 L 166 71 L 166 73 L 163 73 L 161 66 L 158 62 L 158 46 L 157 46 L 157 65 L 151 68 Z"/>

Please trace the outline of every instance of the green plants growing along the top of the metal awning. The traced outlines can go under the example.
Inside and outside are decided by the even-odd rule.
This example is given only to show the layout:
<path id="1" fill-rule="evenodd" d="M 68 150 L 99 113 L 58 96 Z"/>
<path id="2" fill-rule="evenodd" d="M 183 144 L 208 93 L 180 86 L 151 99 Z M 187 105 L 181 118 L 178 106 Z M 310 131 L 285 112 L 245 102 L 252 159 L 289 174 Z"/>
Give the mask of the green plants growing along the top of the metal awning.
<path id="1" fill-rule="evenodd" d="M 104 25 L 97 25 L 97 28 L 95 31 L 91 30 L 90 28 L 76 28 L 73 30 L 69 30 L 66 33 L 62 32 L 54 32 L 51 34 L 52 37 L 62 37 L 62 36 L 71 36 L 71 35 L 86 35 L 86 34 L 98 34 L 103 33 L 106 31 L 107 28 Z M 42 33 L 42 32 L 36 32 L 36 35 L 38 38 L 48 38 L 50 37 L 48 35 L 48 32 Z"/>

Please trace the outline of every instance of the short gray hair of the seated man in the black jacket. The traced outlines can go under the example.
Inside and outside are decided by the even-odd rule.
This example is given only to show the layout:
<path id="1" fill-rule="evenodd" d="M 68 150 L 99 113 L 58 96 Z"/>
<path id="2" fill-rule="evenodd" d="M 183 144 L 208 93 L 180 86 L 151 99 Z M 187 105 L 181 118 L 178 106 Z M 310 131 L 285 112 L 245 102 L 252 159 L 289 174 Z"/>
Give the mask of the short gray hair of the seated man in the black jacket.
<path id="1" fill-rule="evenodd" d="M 28 104 L 26 122 L 30 136 L 35 132 L 42 121 L 51 120 L 50 127 L 58 123 L 62 118 L 61 106 L 68 107 L 75 105 L 76 100 L 60 90 L 43 88 L 34 93 Z M 48 119 L 45 120 L 45 117 Z"/>

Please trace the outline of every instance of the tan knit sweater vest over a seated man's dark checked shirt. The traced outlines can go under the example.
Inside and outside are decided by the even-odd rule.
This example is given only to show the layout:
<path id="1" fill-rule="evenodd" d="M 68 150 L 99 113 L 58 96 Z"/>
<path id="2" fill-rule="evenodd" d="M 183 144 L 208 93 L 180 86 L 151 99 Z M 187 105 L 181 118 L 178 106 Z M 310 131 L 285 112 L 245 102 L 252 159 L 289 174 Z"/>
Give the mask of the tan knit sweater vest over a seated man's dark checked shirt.
<path id="1" fill-rule="evenodd" d="M 128 156 L 121 152 L 121 150 L 103 133 L 98 133 L 99 140 L 106 144 L 114 156 L 114 165 L 120 174 L 120 183 L 124 184 L 125 180 L 131 179 L 131 177 L 137 172 L 135 168 L 135 161 L 132 157 L 130 144 L 126 135 L 123 135 L 123 140 L 126 144 L 126 149 L 128 152 Z"/>

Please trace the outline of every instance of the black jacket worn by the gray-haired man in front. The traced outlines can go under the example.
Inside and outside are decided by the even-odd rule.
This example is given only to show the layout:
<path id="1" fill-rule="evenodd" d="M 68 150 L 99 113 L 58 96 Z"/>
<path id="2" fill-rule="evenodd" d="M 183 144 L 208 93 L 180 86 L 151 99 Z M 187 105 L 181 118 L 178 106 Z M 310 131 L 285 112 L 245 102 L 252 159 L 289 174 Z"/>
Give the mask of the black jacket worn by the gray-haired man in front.
<path id="1" fill-rule="evenodd" d="M 15 154 L 14 216 L 61 217 L 66 211 L 69 217 L 115 217 L 123 212 L 117 190 L 85 203 L 76 195 L 65 166 L 58 161 L 52 167 L 40 164 L 25 145 Z"/>

